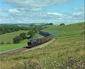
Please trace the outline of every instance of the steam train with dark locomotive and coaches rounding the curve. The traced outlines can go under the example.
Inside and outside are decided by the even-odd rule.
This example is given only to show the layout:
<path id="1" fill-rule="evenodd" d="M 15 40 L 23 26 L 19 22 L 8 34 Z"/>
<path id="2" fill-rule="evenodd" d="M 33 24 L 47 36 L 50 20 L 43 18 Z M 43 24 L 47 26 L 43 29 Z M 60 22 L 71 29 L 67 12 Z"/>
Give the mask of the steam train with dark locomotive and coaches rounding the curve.
<path id="1" fill-rule="evenodd" d="M 44 37 L 39 38 L 39 39 L 33 39 L 33 40 L 30 40 L 29 42 L 27 42 L 28 48 L 35 47 L 37 45 L 41 45 L 41 44 L 46 43 L 46 42 L 50 41 L 51 39 L 53 39 L 53 36 L 48 32 L 39 31 L 39 34 Z"/>

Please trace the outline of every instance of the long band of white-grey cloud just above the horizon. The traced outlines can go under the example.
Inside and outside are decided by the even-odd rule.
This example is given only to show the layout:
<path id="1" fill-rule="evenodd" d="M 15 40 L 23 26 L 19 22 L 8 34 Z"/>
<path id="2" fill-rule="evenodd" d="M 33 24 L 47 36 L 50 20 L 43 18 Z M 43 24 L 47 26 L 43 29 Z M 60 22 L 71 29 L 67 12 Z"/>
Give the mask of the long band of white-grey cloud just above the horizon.
<path id="1" fill-rule="evenodd" d="M 35 13 L 35 12 L 22 12 L 17 9 L 3 10 L 3 13 L 8 13 L 9 16 L 1 16 L 1 23 L 76 23 L 84 21 L 84 12 L 78 13 Z"/>

